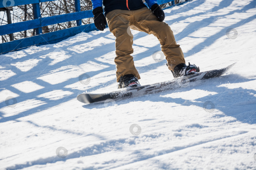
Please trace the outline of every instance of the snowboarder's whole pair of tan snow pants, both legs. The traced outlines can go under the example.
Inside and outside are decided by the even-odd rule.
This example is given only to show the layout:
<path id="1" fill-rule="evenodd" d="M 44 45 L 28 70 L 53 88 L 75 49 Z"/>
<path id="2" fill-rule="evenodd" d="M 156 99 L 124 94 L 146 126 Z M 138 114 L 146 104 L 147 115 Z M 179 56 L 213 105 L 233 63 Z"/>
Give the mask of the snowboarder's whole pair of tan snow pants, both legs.
<path id="1" fill-rule="evenodd" d="M 176 44 L 173 31 L 165 22 L 160 22 L 148 8 L 137 10 L 116 9 L 107 13 L 109 30 L 116 37 L 116 76 L 119 82 L 120 76 L 133 74 L 140 79 L 139 73 L 134 66 L 131 28 L 153 34 L 158 38 L 162 52 L 164 53 L 169 70 L 173 70 L 178 64 L 185 63 L 180 45 Z M 145 42 L 146 43 L 146 42 Z"/>

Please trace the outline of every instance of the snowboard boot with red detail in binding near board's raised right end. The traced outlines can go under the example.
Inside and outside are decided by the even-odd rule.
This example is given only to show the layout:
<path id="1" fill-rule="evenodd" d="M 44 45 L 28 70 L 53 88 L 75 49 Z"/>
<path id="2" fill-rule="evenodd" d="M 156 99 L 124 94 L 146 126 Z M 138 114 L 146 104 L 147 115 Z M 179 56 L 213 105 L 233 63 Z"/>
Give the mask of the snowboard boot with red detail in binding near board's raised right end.
<path id="1" fill-rule="evenodd" d="M 194 64 L 188 63 L 186 64 L 179 64 L 174 67 L 174 71 L 172 71 L 174 78 L 180 77 L 180 76 L 187 76 L 191 74 L 198 73 L 200 71 L 199 67 L 197 67 Z"/>

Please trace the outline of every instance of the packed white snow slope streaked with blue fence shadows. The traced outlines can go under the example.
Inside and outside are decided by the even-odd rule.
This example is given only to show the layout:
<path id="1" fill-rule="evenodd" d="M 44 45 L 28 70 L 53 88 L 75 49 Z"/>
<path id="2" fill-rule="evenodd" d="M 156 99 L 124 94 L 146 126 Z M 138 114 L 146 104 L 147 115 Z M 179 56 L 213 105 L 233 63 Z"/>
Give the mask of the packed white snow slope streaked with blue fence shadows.
<path id="1" fill-rule="evenodd" d="M 131 99 L 76 100 L 117 89 L 109 29 L 0 55 L 0 169 L 256 169 L 255 7 L 193 0 L 165 9 L 186 63 L 237 64 Z M 173 79 L 157 38 L 132 33 L 140 83 Z"/>

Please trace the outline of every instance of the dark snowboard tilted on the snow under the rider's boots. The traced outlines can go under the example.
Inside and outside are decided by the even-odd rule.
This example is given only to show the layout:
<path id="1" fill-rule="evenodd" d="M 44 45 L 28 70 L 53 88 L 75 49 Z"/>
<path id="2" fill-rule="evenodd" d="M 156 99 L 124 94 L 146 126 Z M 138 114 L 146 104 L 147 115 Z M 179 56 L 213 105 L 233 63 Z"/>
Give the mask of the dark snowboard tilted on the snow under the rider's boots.
<path id="1" fill-rule="evenodd" d="M 109 92 L 109 93 L 99 93 L 99 94 L 92 94 L 92 93 L 82 93 L 79 94 L 76 99 L 82 103 L 90 104 L 99 101 L 105 100 L 113 100 L 113 99 L 126 99 L 130 97 L 135 97 L 139 95 L 145 95 L 150 93 L 158 93 L 165 90 L 180 88 L 180 87 L 187 87 L 189 86 L 190 82 L 195 82 L 198 80 L 210 79 L 214 77 L 219 77 L 223 75 L 226 71 L 228 71 L 234 64 L 229 65 L 227 67 L 199 72 L 195 74 L 191 74 L 188 76 L 182 76 L 179 78 L 174 78 L 170 81 L 159 82 L 144 86 L 137 86 L 137 87 L 128 87 L 122 88 L 117 91 Z"/>

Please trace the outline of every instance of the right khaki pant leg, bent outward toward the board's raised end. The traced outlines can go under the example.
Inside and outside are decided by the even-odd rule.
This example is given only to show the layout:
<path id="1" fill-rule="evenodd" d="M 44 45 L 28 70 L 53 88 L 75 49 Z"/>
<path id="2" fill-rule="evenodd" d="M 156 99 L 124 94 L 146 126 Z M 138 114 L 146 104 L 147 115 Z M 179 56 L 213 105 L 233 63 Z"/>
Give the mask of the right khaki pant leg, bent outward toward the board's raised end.
<path id="1" fill-rule="evenodd" d="M 173 31 L 168 24 L 160 22 L 148 8 L 134 10 L 133 16 L 131 25 L 158 38 L 169 70 L 173 70 L 178 64 L 185 63 L 184 54 L 180 45 L 176 43 Z"/>

